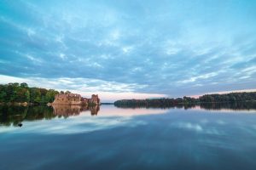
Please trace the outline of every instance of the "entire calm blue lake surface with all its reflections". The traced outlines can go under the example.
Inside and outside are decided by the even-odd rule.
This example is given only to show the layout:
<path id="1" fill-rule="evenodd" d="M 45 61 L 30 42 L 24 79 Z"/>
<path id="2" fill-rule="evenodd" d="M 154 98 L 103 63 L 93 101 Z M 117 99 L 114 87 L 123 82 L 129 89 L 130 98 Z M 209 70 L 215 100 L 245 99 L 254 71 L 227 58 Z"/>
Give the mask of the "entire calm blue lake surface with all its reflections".
<path id="1" fill-rule="evenodd" d="M 0 106 L 0 169 L 256 169 L 256 110 Z"/>

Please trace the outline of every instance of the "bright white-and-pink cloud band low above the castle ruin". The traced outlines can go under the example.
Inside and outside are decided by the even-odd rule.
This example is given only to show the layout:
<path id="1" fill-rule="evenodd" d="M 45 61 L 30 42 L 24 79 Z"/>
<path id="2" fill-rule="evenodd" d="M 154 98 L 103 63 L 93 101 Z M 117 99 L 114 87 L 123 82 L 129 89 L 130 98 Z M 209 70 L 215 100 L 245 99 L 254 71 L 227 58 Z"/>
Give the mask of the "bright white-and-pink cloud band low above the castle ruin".
<path id="1" fill-rule="evenodd" d="M 98 79 L 88 78 L 41 78 L 41 77 L 9 77 L 0 75 L 2 83 L 26 82 L 30 87 L 53 88 L 56 90 L 71 91 L 90 97 L 91 94 L 99 94 L 102 102 L 113 102 L 116 99 L 148 99 L 162 98 L 165 94 L 137 93 L 139 88 L 147 85 L 125 84 L 119 82 L 106 82 Z"/>

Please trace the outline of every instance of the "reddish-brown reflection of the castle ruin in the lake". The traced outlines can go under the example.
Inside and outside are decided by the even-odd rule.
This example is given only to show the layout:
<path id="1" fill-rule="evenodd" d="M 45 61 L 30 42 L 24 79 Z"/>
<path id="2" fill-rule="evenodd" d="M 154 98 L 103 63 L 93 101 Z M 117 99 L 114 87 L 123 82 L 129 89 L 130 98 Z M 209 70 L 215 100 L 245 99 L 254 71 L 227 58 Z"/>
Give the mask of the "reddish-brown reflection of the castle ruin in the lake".
<path id="1" fill-rule="evenodd" d="M 91 116 L 96 116 L 100 111 L 99 105 L 53 105 L 56 116 L 78 116 L 82 111 L 90 111 Z"/>

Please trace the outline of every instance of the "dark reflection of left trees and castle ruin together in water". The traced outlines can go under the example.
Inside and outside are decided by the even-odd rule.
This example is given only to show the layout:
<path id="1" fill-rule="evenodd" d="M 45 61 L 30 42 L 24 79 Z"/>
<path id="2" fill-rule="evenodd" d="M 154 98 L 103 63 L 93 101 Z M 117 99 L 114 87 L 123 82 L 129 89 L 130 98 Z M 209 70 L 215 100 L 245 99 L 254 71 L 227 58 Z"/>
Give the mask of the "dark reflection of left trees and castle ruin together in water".
<path id="1" fill-rule="evenodd" d="M 57 105 L 21 106 L 0 105 L 0 126 L 20 126 L 23 121 L 50 120 L 55 117 L 78 116 L 81 111 L 90 111 L 91 116 L 97 115 L 100 106 Z"/>

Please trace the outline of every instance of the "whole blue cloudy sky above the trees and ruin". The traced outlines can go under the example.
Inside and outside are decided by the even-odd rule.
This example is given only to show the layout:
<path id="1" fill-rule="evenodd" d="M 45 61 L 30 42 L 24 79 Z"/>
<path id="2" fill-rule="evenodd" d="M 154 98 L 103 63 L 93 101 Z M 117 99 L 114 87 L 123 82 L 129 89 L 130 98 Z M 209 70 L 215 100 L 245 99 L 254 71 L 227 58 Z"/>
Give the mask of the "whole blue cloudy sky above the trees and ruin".
<path id="1" fill-rule="evenodd" d="M 0 83 L 102 101 L 256 89 L 254 0 L 1 0 Z"/>

